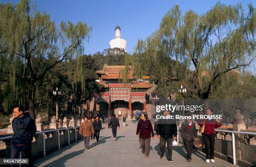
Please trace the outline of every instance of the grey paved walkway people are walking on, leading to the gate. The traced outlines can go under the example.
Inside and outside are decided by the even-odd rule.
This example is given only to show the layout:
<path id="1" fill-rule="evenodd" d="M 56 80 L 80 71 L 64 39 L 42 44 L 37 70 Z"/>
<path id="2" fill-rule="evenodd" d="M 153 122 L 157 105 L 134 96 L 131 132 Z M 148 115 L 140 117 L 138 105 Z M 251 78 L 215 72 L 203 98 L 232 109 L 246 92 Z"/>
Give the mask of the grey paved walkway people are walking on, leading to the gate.
<path id="1" fill-rule="evenodd" d="M 122 121 L 120 121 L 122 126 Z M 151 151 L 149 159 L 145 159 L 139 149 L 138 137 L 136 137 L 137 121 L 127 121 L 127 127 L 118 130 L 118 137 L 113 141 L 111 129 L 107 123 L 100 132 L 100 140 L 90 140 L 90 149 L 84 149 L 84 142 L 70 144 L 46 157 L 35 161 L 36 167 L 238 167 L 224 160 L 215 158 L 215 163 L 207 164 L 205 154 L 195 151 L 192 154 L 192 162 L 187 162 L 186 152 L 182 145 L 173 147 L 172 159 L 167 161 L 166 157 L 160 159 L 159 139 L 151 139 Z"/>

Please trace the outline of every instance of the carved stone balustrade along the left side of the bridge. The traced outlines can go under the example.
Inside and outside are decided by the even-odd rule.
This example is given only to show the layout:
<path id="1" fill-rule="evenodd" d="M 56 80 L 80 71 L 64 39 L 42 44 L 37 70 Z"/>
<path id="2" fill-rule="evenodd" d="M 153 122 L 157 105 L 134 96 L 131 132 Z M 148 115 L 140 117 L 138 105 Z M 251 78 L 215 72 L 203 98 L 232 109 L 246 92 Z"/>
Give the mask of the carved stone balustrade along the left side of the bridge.
<path id="1" fill-rule="evenodd" d="M 76 142 L 76 137 L 77 137 L 77 140 L 81 139 L 81 134 L 79 134 L 79 127 L 76 127 L 74 129 L 73 128 L 66 129 L 67 128 L 65 127 L 67 126 L 66 117 L 63 120 L 63 127 L 58 127 L 55 116 L 53 116 L 53 118 L 51 119 L 50 129 L 44 129 L 41 121 L 42 121 L 41 116 L 38 115 L 36 118 L 37 134 L 36 134 L 36 137 L 33 138 L 32 151 L 31 151 L 34 158 L 39 158 L 44 156 L 44 142 L 43 142 L 44 138 L 45 138 L 46 154 L 59 149 L 57 130 L 59 130 L 60 147 L 64 147 L 69 143 Z M 70 125 L 73 125 L 73 124 L 74 124 L 74 119 L 72 120 L 72 123 Z M 56 131 L 46 132 L 46 131 L 55 130 L 55 129 Z M 43 132 L 45 132 L 45 135 L 43 135 Z M 1 134 L 0 138 L 10 137 L 12 135 L 13 135 L 13 132 L 8 134 Z M 10 158 L 10 140 L 11 139 L 5 139 L 0 141 L 0 158 Z"/>

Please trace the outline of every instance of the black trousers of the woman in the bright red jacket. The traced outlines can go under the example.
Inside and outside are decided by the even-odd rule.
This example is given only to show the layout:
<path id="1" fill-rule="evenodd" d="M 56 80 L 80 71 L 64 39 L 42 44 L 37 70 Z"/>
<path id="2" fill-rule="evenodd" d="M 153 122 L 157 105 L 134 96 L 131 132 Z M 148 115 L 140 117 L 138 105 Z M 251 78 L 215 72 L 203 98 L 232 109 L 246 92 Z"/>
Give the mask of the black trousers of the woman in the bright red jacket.
<path id="1" fill-rule="evenodd" d="M 202 134 L 205 143 L 206 159 L 214 159 L 215 134 Z"/>

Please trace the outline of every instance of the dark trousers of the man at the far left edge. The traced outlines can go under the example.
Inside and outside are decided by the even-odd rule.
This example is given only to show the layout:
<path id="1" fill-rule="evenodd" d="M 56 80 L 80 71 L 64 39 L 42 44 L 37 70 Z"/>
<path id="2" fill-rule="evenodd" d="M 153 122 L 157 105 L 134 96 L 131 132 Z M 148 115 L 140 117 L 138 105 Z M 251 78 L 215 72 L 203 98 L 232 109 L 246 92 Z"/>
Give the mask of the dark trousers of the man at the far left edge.
<path id="1" fill-rule="evenodd" d="M 11 139 L 11 158 L 20 158 L 20 152 L 21 152 L 21 158 L 29 158 L 29 164 L 23 164 L 22 167 L 33 167 L 34 162 L 31 156 L 31 142 L 29 144 L 23 145 L 23 146 L 17 146 L 13 143 L 13 140 Z M 18 167 L 18 164 L 11 165 L 12 167 Z"/>

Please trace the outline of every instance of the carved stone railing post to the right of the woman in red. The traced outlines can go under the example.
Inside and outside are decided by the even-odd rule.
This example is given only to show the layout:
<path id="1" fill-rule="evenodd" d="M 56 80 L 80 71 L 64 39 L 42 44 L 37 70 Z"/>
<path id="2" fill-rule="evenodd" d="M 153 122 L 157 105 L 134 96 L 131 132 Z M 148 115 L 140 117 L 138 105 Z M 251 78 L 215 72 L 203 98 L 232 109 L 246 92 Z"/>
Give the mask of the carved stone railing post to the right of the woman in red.
<path id="1" fill-rule="evenodd" d="M 241 130 L 246 130 L 246 125 L 243 121 L 243 115 L 241 114 L 241 111 L 239 109 L 236 110 L 236 113 L 234 114 L 234 123 L 233 123 L 233 131 L 240 132 Z M 238 159 L 244 159 L 244 140 L 243 140 L 243 134 L 235 134 L 236 139 L 236 157 Z"/>

